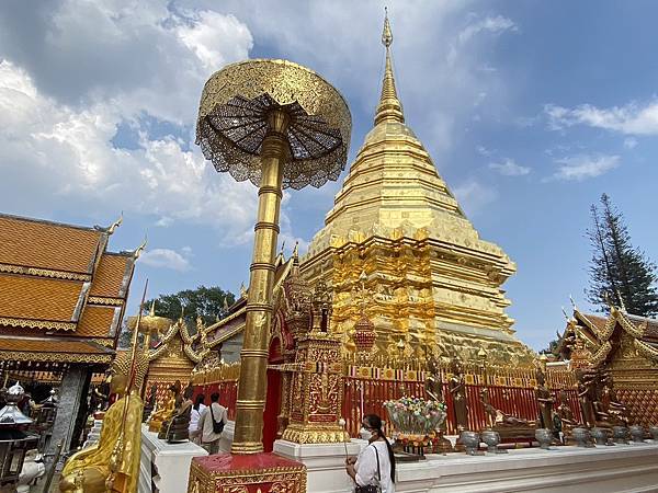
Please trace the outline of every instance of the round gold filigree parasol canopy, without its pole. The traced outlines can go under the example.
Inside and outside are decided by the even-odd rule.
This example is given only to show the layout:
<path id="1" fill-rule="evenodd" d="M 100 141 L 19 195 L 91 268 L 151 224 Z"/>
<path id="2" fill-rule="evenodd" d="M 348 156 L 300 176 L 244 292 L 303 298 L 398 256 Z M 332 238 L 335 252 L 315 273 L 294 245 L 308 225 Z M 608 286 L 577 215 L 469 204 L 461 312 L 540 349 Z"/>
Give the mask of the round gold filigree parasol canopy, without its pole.
<path id="1" fill-rule="evenodd" d="M 215 72 L 201 96 L 196 144 L 217 171 L 258 186 L 266 115 L 276 107 L 291 118 L 283 187 L 320 187 L 338 180 L 347 162 L 350 111 L 325 79 L 291 61 L 248 60 Z"/>

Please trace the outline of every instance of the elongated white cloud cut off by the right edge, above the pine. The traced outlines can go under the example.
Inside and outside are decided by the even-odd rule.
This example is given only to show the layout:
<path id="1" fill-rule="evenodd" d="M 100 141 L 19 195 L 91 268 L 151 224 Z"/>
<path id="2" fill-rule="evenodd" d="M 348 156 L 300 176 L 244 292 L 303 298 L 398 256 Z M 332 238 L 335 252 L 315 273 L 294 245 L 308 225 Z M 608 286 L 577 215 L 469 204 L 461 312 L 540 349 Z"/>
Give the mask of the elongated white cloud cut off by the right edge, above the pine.
<path id="1" fill-rule="evenodd" d="M 544 113 L 548 117 L 548 127 L 556 130 L 586 125 L 625 135 L 658 135 L 658 100 L 610 108 L 599 108 L 591 104 L 581 104 L 575 108 L 547 104 Z"/>

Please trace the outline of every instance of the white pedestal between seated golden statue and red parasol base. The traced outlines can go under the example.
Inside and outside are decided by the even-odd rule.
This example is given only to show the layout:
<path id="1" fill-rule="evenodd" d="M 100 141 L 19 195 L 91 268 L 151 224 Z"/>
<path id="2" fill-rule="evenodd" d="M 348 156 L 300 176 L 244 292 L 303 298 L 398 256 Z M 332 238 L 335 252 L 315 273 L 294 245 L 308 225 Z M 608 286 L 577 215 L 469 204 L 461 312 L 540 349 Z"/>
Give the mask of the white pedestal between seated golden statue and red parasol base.
<path id="1" fill-rule="evenodd" d="M 207 455 L 207 451 L 192 442 L 168 444 L 160 440 L 157 433 L 148 431 L 148 425 L 141 425 L 139 493 L 188 491 L 192 458 Z"/>

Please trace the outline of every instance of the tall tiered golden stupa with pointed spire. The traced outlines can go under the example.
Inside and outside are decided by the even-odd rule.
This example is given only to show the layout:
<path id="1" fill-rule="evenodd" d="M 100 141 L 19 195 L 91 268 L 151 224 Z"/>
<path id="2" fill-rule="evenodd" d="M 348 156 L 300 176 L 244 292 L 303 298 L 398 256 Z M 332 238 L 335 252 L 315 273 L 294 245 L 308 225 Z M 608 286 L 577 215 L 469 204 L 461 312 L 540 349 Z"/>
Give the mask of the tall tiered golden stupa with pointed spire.
<path id="1" fill-rule="evenodd" d="M 388 19 L 386 65 L 374 128 L 325 227 L 310 242 L 302 273 L 333 288 L 333 332 L 354 351 L 360 276 L 366 316 L 382 356 L 526 366 L 533 353 L 514 336 L 501 284 L 515 272 L 502 249 L 479 238 L 423 145 L 406 125 L 397 96 Z M 483 352 L 484 349 L 484 352 Z"/>

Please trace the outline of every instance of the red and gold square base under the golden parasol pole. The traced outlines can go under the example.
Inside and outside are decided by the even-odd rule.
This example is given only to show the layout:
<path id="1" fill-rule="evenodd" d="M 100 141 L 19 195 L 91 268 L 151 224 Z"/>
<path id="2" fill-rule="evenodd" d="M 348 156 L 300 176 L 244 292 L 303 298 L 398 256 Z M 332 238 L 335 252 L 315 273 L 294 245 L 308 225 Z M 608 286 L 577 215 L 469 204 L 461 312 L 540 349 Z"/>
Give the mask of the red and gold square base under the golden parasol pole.
<path id="1" fill-rule="evenodd" d="M 185 491 L 185 490 L 179 490 Z M 306 493 L 306 467 L 276 454 L 195 457 L 189 493 Z"/>

